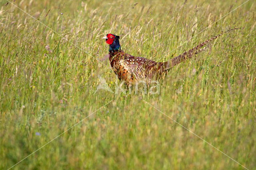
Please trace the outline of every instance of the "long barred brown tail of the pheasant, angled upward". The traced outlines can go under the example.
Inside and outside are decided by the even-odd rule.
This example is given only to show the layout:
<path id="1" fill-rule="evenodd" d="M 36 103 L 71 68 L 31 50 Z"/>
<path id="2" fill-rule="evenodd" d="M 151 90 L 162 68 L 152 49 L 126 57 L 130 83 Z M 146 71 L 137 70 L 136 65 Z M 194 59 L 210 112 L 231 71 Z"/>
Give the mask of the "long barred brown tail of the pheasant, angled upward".
<path id="1" fill-rule="evenodd" d="M 237 29 L 240 29 L 240 28 L 234 28 L 234 29 L 228 30 L 226 32 L 222 32 L 218 36 L 214 36 L 214 37 L 206 40 L 205 42 L 200 43 L 196 47 L 178 55 L 177 57 L 172 58 L 170 61 L 166 62 L 166 68 L 164 70 L 168 70 L 168 69 L 174 67 L 175 65 L 177 65 L 178 63 L 181 63 L 182 61 L 185 61 L 186 59 L 192 58 L 193 55 L 198 54 L 198 53 L 204 51 L 207 48 L 207 46 L 206 46 L 206 47 L 201 49 L 201 47 L 203 47 L 204 45 L 208 44 L 212 40 L 215 40 L 216 38 L 218 38 L 219 36 L 222 36 L 225 33 L 228 33 L 230 31 L 237 30 Z"/>

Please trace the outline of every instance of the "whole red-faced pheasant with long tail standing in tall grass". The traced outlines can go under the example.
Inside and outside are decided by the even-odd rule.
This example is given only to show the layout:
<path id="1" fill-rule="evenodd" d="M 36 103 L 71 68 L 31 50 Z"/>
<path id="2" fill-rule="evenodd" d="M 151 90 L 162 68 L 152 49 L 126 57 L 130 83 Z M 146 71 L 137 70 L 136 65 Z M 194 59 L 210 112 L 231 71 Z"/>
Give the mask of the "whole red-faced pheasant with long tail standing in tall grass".
<path id="1" fill-rule="evenodd" d="M 237 29 L 239 28 L 234 28 L 223 32 L 218 36 L 214 36 L 166 62 L 156 62 L 144 57 L 134 57 L 133 55 L 125 53 L 122 51 L 119 43 L 120 37 L 114 34 L 107 34 L 102 39 L 105 39 L 106 43 L 110 45 L 108 59 L 114 73 L 118 76 L 119 80 L 124 81 L 128 87 L 131 87 L 139 81 L 149 83 L 151 80 L 160 79 L 175 65 L 185 61 L 186 59 L 192 58 L 201 51 L 204 51 L 207 46 L 204 48 L 202 47 L 207 43 L 227 32 Z"/>

